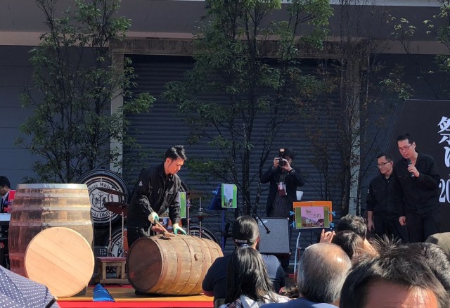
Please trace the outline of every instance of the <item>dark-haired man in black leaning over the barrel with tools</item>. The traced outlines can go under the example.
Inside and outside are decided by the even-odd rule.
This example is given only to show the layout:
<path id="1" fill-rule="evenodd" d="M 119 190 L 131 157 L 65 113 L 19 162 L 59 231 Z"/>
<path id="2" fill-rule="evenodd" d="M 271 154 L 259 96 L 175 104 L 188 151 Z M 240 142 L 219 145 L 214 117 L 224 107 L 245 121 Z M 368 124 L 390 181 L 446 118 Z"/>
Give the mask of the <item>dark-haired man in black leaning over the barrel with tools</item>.
<path id="1" fill-rule="evenodd" d="M 162 164 L 144 169 L 139 174 L 127 215 L 127 239 L 131 247 L 142 236 L 152 235 L 150 231 L 160 231 L 155 222 L 159 215 L 169 209 L 174 233 L 186 231 L 179 226 L 180 205 L 178 193 L 181 181 L 179 172 L 186 160 L 183 146 L 172 146 L 165 153 Z M 153 226 L 153 227 L 152 227 Z"/>

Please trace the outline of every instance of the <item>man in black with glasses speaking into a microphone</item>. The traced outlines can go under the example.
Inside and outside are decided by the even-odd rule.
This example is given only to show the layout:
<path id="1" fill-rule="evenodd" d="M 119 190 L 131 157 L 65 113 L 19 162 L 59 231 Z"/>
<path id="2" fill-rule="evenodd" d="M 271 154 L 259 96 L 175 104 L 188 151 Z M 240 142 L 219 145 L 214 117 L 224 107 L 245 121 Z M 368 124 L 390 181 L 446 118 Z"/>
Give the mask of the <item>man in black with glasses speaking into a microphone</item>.
<path id="1" fill-rule="evenodd" d="M 424 242 L 439 233 L 439 173 L 432 156 L 418 153 L 410 134 L 397 137 L 401 158 L 394 165 L 399 222 L 406 225 L 411 243 Z"/>

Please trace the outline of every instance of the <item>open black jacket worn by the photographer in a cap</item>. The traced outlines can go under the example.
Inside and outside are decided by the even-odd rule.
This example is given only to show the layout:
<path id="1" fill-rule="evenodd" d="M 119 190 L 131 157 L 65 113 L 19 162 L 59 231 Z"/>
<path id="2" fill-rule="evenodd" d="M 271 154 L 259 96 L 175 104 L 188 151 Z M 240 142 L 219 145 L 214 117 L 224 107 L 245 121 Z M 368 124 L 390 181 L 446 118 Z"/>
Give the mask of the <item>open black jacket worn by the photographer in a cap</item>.
<path id="1" fill-rule="evenodd" d="M 260 179 L 262 184 L 270 182 L 269 196 L 267 197 L 266 204 L 266 214 L 269 214 L 272 203 L 274 203 L 275 196 L 278 193 L 278 183 L 280 182 L 280 177 L 282 177 L 281 174 L 281 167 L 275 168 L 274 166 L 271 166 L 266 173 L 262 174 Z M 284 174 L 286 195 L 288 196 L 290 207 L 293 207 L 293 202 L 297 201 L 297 186 L 303 186 L 304 179 L 302 174 L 297 172 L 295 169 L 292 169 L 291 172 L 285 172 Z"/>

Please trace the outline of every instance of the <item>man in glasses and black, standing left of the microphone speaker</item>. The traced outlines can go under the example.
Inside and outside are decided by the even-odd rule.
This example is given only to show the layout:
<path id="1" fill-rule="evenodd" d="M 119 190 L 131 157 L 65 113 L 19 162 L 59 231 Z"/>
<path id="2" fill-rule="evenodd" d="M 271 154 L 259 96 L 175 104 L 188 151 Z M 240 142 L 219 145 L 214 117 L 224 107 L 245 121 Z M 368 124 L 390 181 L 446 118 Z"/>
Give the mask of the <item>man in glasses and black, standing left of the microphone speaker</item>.
<path id="1" fill-rule="evenodd" d="M 377 166 L 380 174 L 371 180 L 366 198 L 367 229 L 380 237 L 386 234 L 390 238 L 406 241 L 406 230 L 400 225 L 397 212 L 398 195 L 392 192 L 392 156 L 380 153 L 377 156 Z"/>

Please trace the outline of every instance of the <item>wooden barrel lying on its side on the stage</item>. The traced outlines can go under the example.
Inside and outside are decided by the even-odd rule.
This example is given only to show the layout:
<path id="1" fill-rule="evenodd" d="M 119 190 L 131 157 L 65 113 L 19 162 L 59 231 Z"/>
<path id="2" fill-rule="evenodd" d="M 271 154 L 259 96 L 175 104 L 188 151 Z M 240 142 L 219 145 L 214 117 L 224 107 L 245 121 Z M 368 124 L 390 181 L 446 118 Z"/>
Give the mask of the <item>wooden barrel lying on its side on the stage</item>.
<path id="1" fill-rule="evenodd" d="M 143 293 L 197 295 L 207 270 L 221 256 L 217 243 L 196 236 L 139 238 L 127 256 L 128 280 Z"/>

